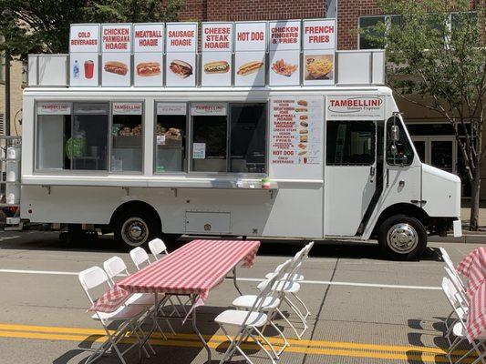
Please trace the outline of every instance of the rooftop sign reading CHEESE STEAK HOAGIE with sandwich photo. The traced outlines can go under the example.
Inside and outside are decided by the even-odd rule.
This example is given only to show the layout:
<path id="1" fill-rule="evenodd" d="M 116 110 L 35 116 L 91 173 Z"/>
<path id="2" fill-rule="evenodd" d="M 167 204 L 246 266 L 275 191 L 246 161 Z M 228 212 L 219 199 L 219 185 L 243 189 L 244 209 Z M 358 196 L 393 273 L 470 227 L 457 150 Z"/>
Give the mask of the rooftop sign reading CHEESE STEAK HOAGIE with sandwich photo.
<path id="1" fill-rule="evenodd" d="M 232 86 L 233 23 L 202 23 L 202 86 Z"/>

